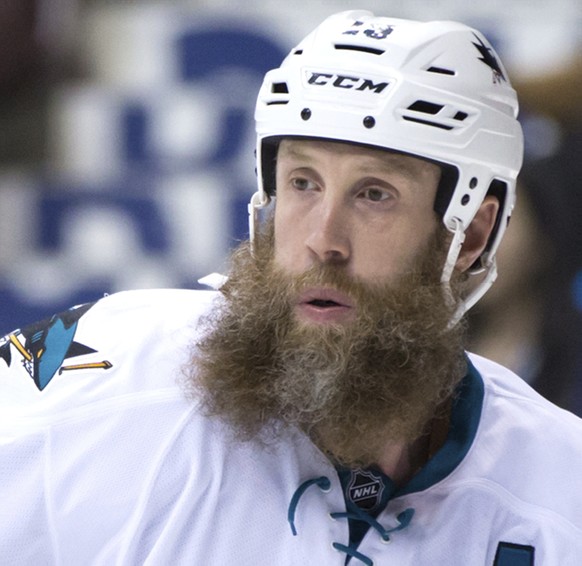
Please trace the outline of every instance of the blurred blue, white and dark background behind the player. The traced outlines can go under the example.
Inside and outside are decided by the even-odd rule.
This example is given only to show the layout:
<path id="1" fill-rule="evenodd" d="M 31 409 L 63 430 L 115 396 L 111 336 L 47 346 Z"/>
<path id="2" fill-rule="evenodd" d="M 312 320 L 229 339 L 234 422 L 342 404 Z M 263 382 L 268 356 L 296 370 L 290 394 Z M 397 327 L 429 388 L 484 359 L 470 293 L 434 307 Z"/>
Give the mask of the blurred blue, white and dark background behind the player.
<path id="1" fill-rule="evenodd" d="M 0 0 L 0 335 L 223 270 L 247 235 L 262 76 L 354 7 L 461 20 L 501 54 L 526 163 L 471 348 L 582 414 L 579 0 Z"/>

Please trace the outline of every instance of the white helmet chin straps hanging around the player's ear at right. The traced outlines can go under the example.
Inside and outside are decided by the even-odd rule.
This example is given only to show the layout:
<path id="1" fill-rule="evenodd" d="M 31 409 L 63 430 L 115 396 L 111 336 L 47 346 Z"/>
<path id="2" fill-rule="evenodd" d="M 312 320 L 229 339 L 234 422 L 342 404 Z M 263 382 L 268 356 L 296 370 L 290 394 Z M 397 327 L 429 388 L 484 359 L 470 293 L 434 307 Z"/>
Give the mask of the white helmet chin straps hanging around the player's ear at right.
<path id="1" fill-rule="evenodd" d="M 453 218 L 455 223 L 454 236 L 449 247 L 449 253 L 447 254 L 447 259 L 443 267 L 443 273 L 441 275 L 441 284 L 443 286 L 443 292 L 448 301 L 452 304 L 454 299 L 451 293 L 451 277 L 459 259 L 459 254 L 461 248 L 463 247 L 463 242 L 465 241 L 465 229 L 463 223 L 458 218 Z M 449 321 L 449 328 L 455 326 L 463 315 L 479 301 L 479 299 L 489 290 L 491 285 L 493 285 L 495 279 L 497 279 L 497 263 L 493 259 L 489 265 L 485 268 L 486 275 L 483 280 L 475 286 L 475 288 L 459 302 L 459 305 Z"/>

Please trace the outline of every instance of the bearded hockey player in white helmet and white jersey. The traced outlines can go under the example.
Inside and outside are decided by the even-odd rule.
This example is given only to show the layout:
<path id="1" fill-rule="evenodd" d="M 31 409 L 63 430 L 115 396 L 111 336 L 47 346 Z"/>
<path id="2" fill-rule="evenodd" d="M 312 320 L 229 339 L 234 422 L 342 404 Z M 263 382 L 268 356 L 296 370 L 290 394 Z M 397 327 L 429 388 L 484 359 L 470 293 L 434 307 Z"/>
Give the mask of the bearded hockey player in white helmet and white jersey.
<path id="1" fill-rule="evenodd" d="M 579 565 L 581 422 L 463 349 L 516 116 L 475 30 L 323 22 L 265 77 L 219 292 L 3 340 L 0 562 Z"/>

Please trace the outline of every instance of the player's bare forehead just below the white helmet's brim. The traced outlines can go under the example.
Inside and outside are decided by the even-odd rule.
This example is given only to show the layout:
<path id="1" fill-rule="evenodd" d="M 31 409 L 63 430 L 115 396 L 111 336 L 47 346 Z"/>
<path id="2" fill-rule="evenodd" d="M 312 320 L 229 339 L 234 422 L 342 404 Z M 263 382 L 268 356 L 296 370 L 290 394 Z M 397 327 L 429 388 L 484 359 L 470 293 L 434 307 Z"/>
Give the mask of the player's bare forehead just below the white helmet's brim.
<path id="1" fill-rule="evenodd" d="M 317 161 L 320 157 L 352 158 L 362 168 L 380 168 L 409 177 L 426 174 L 440 175 L 440 167 L 425 159 L 381 148 L 347 142 L 284 139 L 279 144 L 278 160 Z"/>

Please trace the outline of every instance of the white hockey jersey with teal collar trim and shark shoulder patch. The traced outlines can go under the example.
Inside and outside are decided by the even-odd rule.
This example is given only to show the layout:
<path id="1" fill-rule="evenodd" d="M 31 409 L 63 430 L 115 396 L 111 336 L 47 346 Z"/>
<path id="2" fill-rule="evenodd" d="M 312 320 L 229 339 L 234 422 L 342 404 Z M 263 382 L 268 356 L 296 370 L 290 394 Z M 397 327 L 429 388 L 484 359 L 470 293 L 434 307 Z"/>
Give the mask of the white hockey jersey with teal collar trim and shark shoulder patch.
<path id="1" fill-rule="evenodd" d="M 119 293 L 0 343 L 0 564 L 346 563 L 317 448 L 236 443 L 183 392 L 216 298 Z M 350 565 L 582 564 L 581 421 L 470 359 L 445 445 L 377 520 L 412 518 L 388 544 L 370 528 Z"/>

